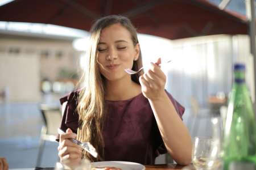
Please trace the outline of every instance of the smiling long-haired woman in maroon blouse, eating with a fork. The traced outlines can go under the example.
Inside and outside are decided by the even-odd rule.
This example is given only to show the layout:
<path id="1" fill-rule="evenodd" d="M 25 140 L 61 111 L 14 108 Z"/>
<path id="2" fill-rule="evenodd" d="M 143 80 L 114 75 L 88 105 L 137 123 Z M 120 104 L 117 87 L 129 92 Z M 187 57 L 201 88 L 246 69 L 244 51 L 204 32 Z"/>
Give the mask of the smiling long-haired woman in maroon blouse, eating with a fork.
<path id="1" fill-rule="evenodd" d="M 104 160 L 154 164 L 167 151 L 181 165 L 191 163 L 191 137 L 181 116 L 184 108 L 164 90 L 160 58 L 143 74 L 124 70 L 142 67 L 135 28 L 124 16 L 97 20 L 86 51 L 84 88 L 67 101 L 60 135 L 60 160 L 94 160 L 68 138 L 89 141 Z M 76 135 L 77 134 L 77 135 Z"/>

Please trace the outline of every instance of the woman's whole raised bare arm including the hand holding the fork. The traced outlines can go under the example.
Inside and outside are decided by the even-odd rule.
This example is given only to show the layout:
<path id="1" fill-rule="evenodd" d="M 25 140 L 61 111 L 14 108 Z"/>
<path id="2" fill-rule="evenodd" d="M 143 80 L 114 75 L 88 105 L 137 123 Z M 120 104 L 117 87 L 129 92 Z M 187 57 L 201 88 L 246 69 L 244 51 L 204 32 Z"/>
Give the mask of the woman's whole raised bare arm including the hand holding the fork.
<path id="1" fill-rule="evenodd" d="M 191 137 L 164 90 L 166 76 L 158 66 L 160 63 L 160 58 L 156 64 L 151 63 L 150 69 L 139 78 L 142 93 L 150 102 L 168 152 L 177 163 L 187 165 L 191 163 Z"/>

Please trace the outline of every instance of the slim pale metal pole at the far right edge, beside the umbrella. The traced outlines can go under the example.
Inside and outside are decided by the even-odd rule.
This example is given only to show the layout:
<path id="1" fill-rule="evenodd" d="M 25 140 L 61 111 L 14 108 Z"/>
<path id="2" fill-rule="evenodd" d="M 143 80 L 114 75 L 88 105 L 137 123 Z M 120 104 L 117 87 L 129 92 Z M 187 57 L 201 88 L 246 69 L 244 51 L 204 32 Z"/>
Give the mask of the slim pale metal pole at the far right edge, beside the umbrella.
<path id="1" fill-rule="evenodd" d="M 251 98 L 253 99 L 254 104 L 254 111 L 256 111 L 256 103 L 255 103 L 255 97 L 256 97 L 256 90 L 255 90 L 255 84 L 256 84 L 256 47 L 255 47 L 255 6 L 254 6 L 254 0 L 246 0 L 245 1 L 246 6 L 246 16 L 249 20 L 249 35 L 250 35 L 250 53 L 253 56 L 253 69 L 254 69 L 254 96 Z M 256 114 L 256 113 L 255 113 Z"/>

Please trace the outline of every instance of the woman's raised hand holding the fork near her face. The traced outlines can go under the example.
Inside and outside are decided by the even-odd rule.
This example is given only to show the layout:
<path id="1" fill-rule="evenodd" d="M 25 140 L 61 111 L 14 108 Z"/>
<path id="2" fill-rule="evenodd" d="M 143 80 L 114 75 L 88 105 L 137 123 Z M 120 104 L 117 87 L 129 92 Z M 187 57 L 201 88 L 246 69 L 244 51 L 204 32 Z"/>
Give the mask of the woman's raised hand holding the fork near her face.
<path id="1" fill-rule="evenodd" d="M 166 75 L 160 69 L 160 63 L 161 58 L 156 63 L 151 62 L 150 69 L 139 77 L 142 94 L 149 100 L 158 100 L 165 94 Z"/>

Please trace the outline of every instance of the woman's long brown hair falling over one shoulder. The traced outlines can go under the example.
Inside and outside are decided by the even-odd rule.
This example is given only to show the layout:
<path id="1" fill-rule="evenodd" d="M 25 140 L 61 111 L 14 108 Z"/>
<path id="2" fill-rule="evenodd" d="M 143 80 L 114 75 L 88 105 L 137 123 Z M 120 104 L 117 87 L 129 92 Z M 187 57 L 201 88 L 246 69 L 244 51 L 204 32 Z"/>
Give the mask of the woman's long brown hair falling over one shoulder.
<path id="1" fill-rule="evenodd" d="M 125 27 L 131 34 L 134 46 L 139 43 L 136 29 L 130 20 L 125 16 L 110 15 L 98 19 L 90 29 L 90 44 L 86 50 L 86 64 L 84 66 L 84 74 L 81 78 L 84 88 L 79 94 L 79 104 L 77 105 L 77 113 L 79 114 L 79 128 L 77 129 L 77 139 L 92 143 L 98 154 L 104 159 L 104 139 L 102 136 L 102 128 L 106 117 L 104 105 L 105 81 L 101 75 L 97 64 L 97 45 L 100 40 L 102 29 L 110 25 L 119 23 Z M 141 49 L 139 58 L 133 63 L 133 70 L 138 70 L 142 66 Z M 139 76 L 143 74 L 131 75 L 131 79 L 139 84 Z M 95 161 L 87 152 L 84 152 L 86 159 Z"/>

